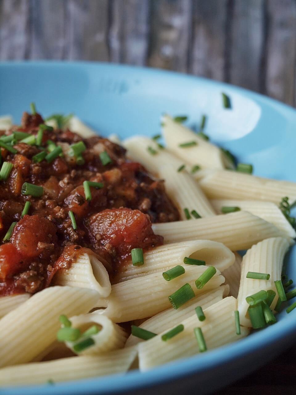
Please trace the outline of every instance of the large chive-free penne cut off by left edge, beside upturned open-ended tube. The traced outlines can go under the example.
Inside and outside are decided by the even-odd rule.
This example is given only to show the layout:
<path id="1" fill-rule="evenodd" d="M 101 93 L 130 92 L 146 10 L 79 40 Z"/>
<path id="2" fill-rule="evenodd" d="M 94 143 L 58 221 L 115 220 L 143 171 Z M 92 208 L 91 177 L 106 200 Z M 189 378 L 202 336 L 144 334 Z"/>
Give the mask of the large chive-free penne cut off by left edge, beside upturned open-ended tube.
<path id="1" fill-rule="evenodd" d="M 66 286 L 50 287 L 30 297 L 0 320 L 0 366 L 32 361 L 56 339 L 60 314 L 86 313 L 98 297 L 95 291 Z"/>

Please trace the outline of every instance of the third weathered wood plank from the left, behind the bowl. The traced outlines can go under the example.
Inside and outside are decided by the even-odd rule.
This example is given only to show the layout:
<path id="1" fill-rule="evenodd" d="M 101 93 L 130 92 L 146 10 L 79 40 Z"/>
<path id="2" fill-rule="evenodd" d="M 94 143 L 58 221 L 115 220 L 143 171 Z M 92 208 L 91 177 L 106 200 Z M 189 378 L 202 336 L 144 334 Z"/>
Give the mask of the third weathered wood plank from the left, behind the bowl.
<path id="1" fill-rule="evenodd" d="M 68 0 L 67 58 L 109 60 L 108 0 Z"/>

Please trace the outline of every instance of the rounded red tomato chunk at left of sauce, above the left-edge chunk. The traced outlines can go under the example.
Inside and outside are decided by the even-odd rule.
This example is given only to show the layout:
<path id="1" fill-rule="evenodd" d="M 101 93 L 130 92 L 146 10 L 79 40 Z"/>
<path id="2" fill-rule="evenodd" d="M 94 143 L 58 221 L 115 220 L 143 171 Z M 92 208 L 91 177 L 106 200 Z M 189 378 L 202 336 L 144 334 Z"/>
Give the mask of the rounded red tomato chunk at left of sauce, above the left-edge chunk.
<path id="1" fill-rule="evenodd" d="M 38 243 L 56 243 L 56 226 L 47 218 L 25 215 L 14 227 L 11 243 L 26 258 L 39 255 Z"/>

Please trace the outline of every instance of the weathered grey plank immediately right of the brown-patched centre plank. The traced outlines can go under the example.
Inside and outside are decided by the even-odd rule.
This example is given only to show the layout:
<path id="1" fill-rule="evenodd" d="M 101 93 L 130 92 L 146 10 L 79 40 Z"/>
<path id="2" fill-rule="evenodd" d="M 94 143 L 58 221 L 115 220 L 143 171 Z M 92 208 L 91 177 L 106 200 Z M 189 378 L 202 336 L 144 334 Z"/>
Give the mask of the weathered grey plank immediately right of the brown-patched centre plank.
<path id="1" fill-rule="evenodd" d="M 193 1 L 191 73 L 224 80 L 226 28 L 227 0 Z"/>

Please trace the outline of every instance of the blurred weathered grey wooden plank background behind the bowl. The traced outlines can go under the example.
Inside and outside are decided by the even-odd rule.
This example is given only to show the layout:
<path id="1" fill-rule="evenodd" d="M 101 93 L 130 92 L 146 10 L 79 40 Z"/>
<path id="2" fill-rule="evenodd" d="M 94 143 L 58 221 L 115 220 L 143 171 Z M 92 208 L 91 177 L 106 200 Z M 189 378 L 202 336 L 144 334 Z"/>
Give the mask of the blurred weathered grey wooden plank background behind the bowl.
<path id="1" fill-rule="evenodd" d="M 296 104 L 296 0 L 0 0 L 0 60 L 103 60 Z"/>

